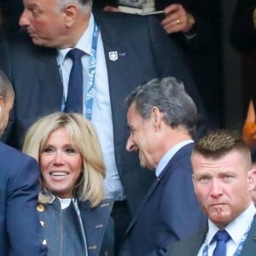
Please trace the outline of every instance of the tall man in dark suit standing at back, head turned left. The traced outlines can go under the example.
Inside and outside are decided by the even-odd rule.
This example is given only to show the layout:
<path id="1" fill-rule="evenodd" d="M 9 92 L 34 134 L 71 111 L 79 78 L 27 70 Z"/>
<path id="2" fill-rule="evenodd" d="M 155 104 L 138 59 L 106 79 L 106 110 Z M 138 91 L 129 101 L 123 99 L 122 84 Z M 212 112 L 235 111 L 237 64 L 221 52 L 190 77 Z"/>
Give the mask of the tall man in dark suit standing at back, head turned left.
<path id="1" fill-rule="evenodd" d="M 39 116 L 65 109 L 72 67 L 67 51 L 71 48 L 86 53 L 81 60 L 86 105 L 88 62 L 96 52 L 96 70 L 90 72 L 90 75 L 95 73 L 91 121 L 96 127 L 106 163 L 106 194 L 115 199 L 114 210 L 125 207 L 127 212 L 124 206 L 127 201 L 131 212 L 134 212 L 154 175 L 142 170 L 137 158 L 125 152 L 128 137 L 125 96 L 149 79 L 175 75 L 184 81 L 199 109 L 197 137 L 206 129 L 201 99 L 178 54 L 179 50 L 153 17 L 101 11 L 92 14 L 90 0 L 73 0 L 68 4 L 49 0 L 23 2 L 25 9 L 20 16 L 20 26 L 26 28 L 33 44 L 26 35 L 12 38 L 0 56 L 0 65 L 14 84 L 16 94 L 14 123 L 8 132 L 8 143 L 19 147 L 24 132 Z M 96 27 L 100 30 L 95 40 L 98 45 L 91 51 Z M 113 218 L 129 223 L 124 211 L 117 215 L 119 217 Z"/>

